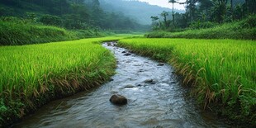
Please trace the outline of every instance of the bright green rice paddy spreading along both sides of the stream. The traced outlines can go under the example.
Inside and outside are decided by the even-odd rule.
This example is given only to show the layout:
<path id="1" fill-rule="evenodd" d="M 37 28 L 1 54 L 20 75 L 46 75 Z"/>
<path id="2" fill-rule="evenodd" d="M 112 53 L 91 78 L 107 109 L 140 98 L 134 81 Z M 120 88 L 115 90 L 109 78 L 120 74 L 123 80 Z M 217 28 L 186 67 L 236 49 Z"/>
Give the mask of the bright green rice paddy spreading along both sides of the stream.
<path id="1" fill-rule="evenodd" d="M 202 107 L 256 124 L 254 40 L 145 39 L 125 36 L 0 47 L 0 126 L 51 99 L 100 85 L 116 60 L 99 42 L 168 62 L 192 86 Z M 127 36 L 126 36 L 127 37 Z M 214 107 L 216 106 L 217 107 Z"/>

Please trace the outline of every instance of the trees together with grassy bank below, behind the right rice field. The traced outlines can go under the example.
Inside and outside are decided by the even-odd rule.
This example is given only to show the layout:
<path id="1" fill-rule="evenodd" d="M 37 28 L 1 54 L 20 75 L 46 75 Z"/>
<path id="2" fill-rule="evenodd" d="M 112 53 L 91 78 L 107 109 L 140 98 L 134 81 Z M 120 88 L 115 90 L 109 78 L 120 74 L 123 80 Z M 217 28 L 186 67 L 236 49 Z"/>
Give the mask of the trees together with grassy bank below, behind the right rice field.
<path id="1" fill-rule="evenodd" d="M 255 40 L 255 0 L 169 0 L 186 5 L 185 13 L 153 16 L 147 37 Z"/>

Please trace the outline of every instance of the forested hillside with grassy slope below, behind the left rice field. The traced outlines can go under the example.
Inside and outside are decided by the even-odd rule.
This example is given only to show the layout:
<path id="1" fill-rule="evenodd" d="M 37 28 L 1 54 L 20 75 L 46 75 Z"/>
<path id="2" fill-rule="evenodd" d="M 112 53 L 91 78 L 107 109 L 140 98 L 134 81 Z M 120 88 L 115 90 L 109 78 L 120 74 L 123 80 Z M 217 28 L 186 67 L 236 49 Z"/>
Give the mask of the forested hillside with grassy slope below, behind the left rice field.
<path id="1" fill-rule="evenodd" d="M 98 0 L 0 0 L 0 45 L 78 40 L 148 28 L 121 13 L 104 12 Z"/>

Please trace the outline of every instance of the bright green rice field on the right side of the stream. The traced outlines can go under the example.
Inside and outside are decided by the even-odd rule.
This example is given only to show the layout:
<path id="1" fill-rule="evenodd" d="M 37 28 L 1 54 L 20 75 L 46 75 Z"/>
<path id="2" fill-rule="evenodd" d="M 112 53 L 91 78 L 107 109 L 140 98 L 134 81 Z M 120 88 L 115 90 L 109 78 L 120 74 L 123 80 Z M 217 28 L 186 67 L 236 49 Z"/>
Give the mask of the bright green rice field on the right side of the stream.
<path id="1" fill-rule="evenodd" d="M 202 107 L 256 125 L 255 41 L 138 38 L 119 45 L 172 64 Z"/>

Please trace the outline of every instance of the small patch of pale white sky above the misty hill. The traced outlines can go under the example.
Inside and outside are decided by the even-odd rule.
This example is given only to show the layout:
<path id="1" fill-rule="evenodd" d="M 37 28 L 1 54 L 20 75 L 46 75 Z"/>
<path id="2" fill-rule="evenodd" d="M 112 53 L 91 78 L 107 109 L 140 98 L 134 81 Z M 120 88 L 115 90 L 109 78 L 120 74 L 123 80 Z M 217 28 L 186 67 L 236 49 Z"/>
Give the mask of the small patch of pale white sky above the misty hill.
<path id="1" fill-rule="evenodd" d="M 159 7 L 173 8 L 173 3 L 168 3 L 168 0 L 139 0 L 140 2 L 149 2 L 152 5 L 158 5 Z M 178 2 L 185 2 L 186 0 L 176 0 Z M 174 3 L 174 8 L 185 10 L 184 5 Z"/>

